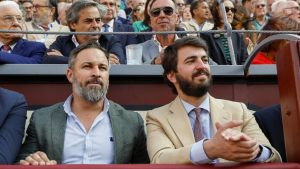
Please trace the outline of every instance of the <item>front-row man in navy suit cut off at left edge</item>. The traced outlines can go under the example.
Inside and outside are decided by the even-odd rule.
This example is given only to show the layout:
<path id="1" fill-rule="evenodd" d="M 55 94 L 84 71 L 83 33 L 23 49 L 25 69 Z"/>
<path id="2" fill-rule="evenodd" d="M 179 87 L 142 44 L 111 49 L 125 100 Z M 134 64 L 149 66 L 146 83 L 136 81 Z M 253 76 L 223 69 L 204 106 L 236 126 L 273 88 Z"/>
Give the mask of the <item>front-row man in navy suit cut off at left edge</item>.
<path id="1" fill-rule="evenodd" d="M 19 153 L 26 111 L 23 95 L 0 88 L 0 164 L 12 164 Z"/>

